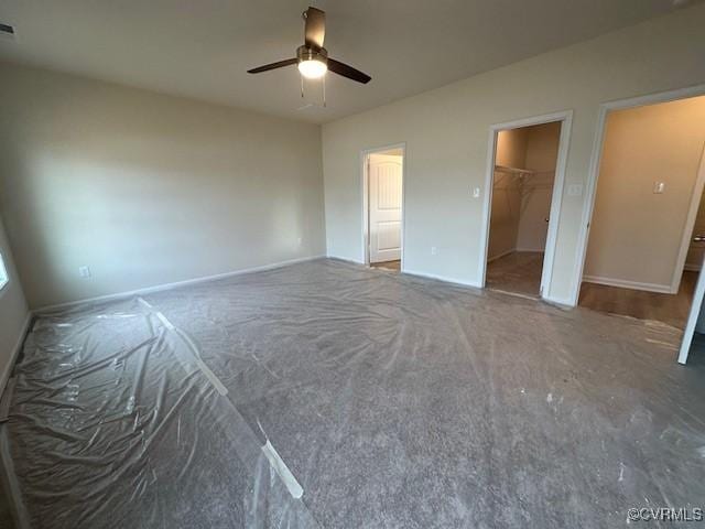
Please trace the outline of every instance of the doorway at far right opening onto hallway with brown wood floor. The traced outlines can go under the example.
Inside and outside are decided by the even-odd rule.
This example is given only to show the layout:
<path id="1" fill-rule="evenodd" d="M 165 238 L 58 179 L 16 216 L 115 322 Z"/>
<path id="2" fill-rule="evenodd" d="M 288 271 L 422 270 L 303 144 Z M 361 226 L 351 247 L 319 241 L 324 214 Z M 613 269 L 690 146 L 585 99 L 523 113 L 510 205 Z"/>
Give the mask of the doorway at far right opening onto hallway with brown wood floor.
<path id="1" fill-rule="evenodd" d="M 705 96 L 605 119 L 578 305 L 685 328 L 705 253 Z"/>

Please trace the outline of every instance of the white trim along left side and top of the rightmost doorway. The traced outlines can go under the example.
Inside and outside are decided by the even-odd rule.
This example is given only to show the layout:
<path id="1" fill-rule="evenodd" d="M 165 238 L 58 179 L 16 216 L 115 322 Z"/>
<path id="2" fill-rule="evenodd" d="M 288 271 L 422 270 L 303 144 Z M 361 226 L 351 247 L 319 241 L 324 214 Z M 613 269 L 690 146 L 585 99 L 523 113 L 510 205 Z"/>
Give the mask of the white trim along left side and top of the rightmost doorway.
<path id="1" fill-rule="evenodd" d="M 595 195 L 597 191 L 597 179 L 599 176 L 599 165 L 603 158 L 603 143 L 605 141 L 605 123 L 607 121 L 607 112 L 609 110 L 618 110 L 625 108 L 641 107 L 657 102 L 674 101 L 677 99 L 686 99 L 705 95 L 705 85 L 696 85 L 677 90 L 662 91 L 648 96 L 632 97 L 629 99 L 619 99 L 616 101 L 604 102 L 599 106 L 597 114 L 597 126 L 595 128 L 595 138 L 593 140 L 593 153 L 590 155 L 590 164 L 587 173 L 587 182 L 585 185 L 585 197 L 583 199 L 583 220 L 581 223 L 581 231 L 578 233 L 577 250 L 575 259 L 575 269 L 573 270 L 573 287 L 571 293 L 571 304 L 577 304 L 581 295 L 581 282 L 585 268 L 585 258 L 587 256 L 587 241 L 589 235 L 590 220 L 595 208 Z"/>

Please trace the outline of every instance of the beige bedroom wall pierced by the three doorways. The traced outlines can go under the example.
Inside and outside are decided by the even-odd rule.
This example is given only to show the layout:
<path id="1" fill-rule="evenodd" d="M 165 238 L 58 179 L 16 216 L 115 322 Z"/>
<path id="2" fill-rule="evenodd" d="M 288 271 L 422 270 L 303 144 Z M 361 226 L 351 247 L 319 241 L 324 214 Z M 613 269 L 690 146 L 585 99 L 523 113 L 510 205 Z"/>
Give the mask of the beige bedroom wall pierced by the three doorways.
<path id="1" fill-rule="evenodd" d="M 573 302 L 582 195 L 599 105 L 705 80 L 705 6 L 546 53 L 323 127 L 326 237 L 332 256 L 362 261 L 360 152 L 406 143 L 408 271 L 479 284 L 482 198 L 492 123 L 573 109 L 566 187 L 547 296 Z M 436 247 L 436 255 L 431 253 Z"/>

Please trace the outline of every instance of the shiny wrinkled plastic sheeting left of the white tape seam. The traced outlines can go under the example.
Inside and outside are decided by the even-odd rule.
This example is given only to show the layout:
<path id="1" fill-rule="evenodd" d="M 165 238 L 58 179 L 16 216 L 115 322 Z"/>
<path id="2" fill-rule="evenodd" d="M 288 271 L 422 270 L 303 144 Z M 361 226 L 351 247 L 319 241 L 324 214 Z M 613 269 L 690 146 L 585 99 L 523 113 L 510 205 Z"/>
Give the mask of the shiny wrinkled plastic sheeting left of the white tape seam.
<path id="1" fill-rule="evenodd" d="M 36 320 L 15 377 L 31 527 L 317 527 L 193 342 L 142 300 Z"/>

